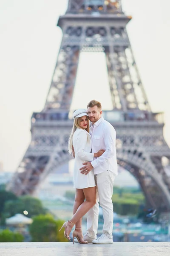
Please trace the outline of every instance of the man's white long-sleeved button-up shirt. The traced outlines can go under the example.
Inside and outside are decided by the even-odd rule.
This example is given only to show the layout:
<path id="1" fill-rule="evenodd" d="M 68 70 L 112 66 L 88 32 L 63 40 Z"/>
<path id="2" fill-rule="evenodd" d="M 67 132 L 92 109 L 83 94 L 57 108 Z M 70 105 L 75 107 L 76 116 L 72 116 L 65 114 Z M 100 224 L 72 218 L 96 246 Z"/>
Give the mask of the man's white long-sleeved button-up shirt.
<path id="1" fill-rule="evenodd" d="M 92 153 L 96 153 L 101 149 L 105 152 L 102 156 L 91 162 L 94 167 L 94 174 L 110 170 L 117 175 L 117 160 L 116 160 L 116 131 L 113 126 L 101 117 L 90 128 Z"/>

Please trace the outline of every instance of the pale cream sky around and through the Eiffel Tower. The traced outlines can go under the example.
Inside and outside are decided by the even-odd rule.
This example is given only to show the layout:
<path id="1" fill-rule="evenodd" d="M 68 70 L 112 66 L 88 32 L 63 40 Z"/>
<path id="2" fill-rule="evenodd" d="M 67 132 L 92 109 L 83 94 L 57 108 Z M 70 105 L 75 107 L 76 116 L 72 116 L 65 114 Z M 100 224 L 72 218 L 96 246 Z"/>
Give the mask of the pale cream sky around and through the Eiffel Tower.
<path id="1" fill-rule="evenodd" d="M 133 53 L 152 111 L 165 113 L 164 137 L 170 145 L 170 0 L 122 0 L 122 6 L 133 16 L 127 25 Z M 31 114 L 45 103 L 62 39 L 56 23 L 66 7 L 67 0 L 0 0 L 0 162 L 5 171 L 16 170 L 31 141 Z M 94 98 L 103 109 L 111 108 L 103 54 L 80 59 L 72 108 L 85 108 Z M 83 67 L 93 88 L 81 87 Z"/>

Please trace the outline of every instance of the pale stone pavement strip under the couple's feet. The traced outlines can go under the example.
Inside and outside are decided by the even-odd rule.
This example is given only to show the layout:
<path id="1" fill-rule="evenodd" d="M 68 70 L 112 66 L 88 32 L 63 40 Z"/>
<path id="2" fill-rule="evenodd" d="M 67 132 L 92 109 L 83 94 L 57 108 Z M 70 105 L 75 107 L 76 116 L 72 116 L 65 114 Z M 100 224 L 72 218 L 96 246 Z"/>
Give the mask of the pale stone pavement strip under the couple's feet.
<path id="1" fill-rule="evenodd" d="M 170 256 L 170 242 L 0 243 L 0 256 Z"/>

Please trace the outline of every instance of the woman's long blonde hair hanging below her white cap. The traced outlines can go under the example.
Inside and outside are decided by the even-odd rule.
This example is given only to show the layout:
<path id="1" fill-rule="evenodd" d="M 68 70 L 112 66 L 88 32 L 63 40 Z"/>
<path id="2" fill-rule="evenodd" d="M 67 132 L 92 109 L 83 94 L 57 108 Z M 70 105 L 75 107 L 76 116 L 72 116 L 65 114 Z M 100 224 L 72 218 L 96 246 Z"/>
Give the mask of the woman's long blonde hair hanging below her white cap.
<path id="1" fill-rule="evenodd" d="M 78 117 L 78 118 L 74 118 L 73 128 L 71 129 L 70 137 L 68 139 L 68 153 L 69 154 L 71 154 L 72 151 L 73 151 L 73 135 L 74 135 L 74 132 L 76 131 L 77 128 L 84 130 L 80 126 L 81 118 L 82 118 L 82 116 Z M 90 122 L 89 122 L 88 116 L 87 116 L 87 119 L 88 119 L 88 127 L 85 130 L 89 133 L 89 131 L 90 131 Z M 87 135 L 87 139 L 88 139 L 88 135 Z"/>

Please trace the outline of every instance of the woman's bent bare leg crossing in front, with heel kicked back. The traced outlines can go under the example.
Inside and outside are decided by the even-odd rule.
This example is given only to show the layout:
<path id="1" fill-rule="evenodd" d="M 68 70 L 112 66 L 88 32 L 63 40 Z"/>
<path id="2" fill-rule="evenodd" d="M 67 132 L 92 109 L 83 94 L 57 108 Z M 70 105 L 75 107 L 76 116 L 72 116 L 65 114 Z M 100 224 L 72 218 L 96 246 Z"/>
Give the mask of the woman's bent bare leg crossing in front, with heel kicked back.
<path id="1" fill-rule="evenodd" d="M 85 188 L 82 190 L 85 195 L 86 201 L 84 201 L 82 204 L 79 205 L 76 213 L 70 220 L 75 224 L 88 212 L 89 209 L 91 209 L 96 204 L 96 187 Z M 73 225 L 70 222 L 68 222 L 68 227 L 66 232 L 67 236 L 70 234 L 72 227 Z"/>

